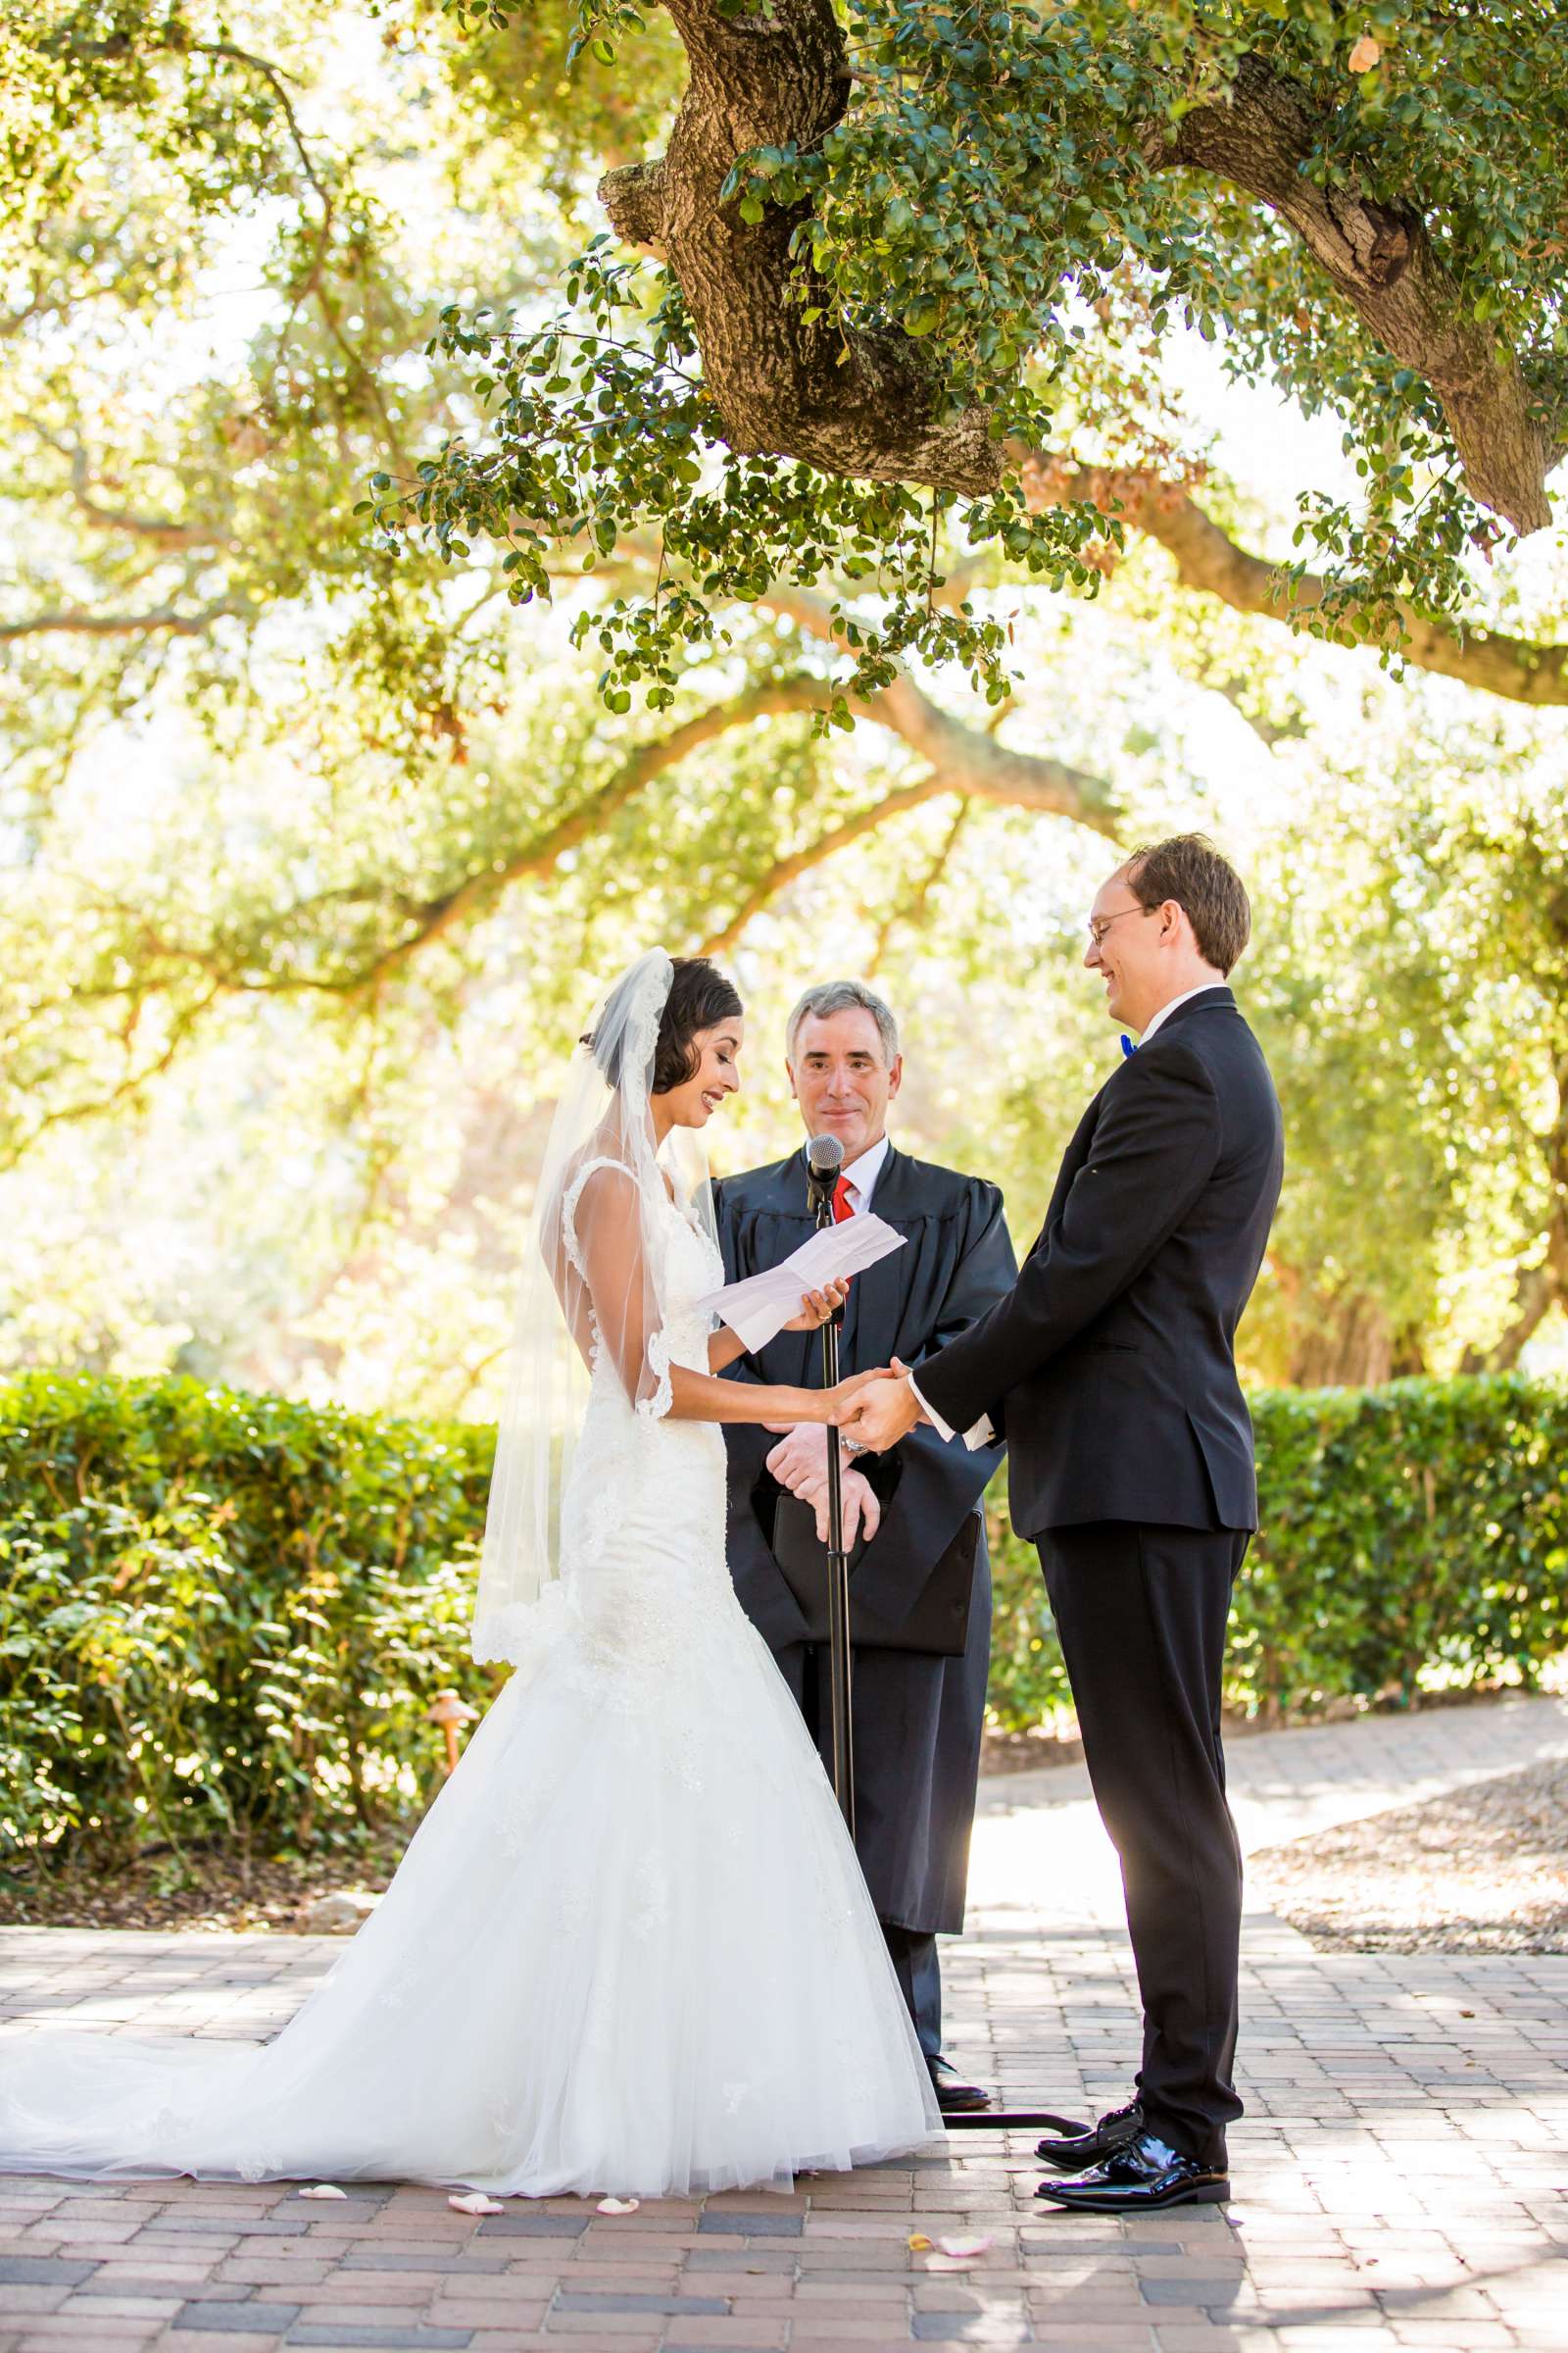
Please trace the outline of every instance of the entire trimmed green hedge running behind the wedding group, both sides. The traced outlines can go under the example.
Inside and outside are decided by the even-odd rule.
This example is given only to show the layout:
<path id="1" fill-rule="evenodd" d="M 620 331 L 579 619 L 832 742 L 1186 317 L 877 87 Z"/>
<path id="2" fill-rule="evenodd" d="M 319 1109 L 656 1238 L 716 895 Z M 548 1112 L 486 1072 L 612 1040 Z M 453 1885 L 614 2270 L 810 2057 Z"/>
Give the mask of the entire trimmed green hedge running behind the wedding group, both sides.
<path id="1" fill-rule="evenodd" d="M 1265 1534 L 1229 1699 L 1286 1715 L 1519 1682 L 1568 1649 L 1568 1391 L 1258 1400 Z M 0 1840 L 353 1840 L 418 1802 L 465 1657 L 491 1433 L 202 1388 L 0 1391 Z M 1034 1553 L 997 1534 L 992 1711 L 1067 1704 Z"/>

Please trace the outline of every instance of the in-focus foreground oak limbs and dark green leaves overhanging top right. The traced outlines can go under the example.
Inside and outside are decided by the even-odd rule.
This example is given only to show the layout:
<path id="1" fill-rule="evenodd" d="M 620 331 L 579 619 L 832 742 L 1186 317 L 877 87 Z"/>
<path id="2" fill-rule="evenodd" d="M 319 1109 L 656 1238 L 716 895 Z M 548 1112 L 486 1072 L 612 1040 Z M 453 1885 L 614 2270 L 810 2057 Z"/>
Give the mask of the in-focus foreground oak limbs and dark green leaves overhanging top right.
<path id="1" fill-rule="evenodd" d="M 534 0 L 449 0 L 505 28 Z M 609 692 L 658 706 L 766 581 L 877 576 L 853 682 L 912 649 L 1006 689 L 947 544 L 1091 586 L 1175 473 L 1180 315 L 1239 381 L 1333 414 L 1356 494 L 1302 485 L 1281 609 L 1401 645 L 1479 621 L 1467 555 L 1549 522 L 1568 346 L 1568 31 L 1537 7 L 668 0 L 668 148 L 599 195 L 562 315 L 444 315 L 487 431 L 381 515 L 505 546 L 512 595 L 656 525 L 670 579 L 595 616 Z M 637 71 L 628 0 L 576 49 Z M 1119 475 L 1131 466 L 1133 485 Z M 1312 555 L 1319 569 L 1312 572 Z M 1295 581 L 1291 574 L 1295 572 Z M 1312 581 L 1302 598 L 1305 581 Z M 846 718 L 842 711 L 839 715 Z"/>

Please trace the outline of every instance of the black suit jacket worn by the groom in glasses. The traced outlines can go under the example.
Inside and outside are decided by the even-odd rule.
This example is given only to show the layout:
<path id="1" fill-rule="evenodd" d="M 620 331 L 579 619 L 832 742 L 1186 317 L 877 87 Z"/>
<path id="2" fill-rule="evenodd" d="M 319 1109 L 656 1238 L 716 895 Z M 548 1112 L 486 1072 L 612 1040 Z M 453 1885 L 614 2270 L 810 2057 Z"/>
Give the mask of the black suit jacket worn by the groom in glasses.
<path id="1" fill-rule="evenodd" d="M 1009 1297 L 919 1367 L 954 1431 L 1006 1433 L 1020 1537 L 1258 1527 L 1234 1339 L 1281 1174 L 1262 1049 L 1208 988 L 1095 1094 Z"/>

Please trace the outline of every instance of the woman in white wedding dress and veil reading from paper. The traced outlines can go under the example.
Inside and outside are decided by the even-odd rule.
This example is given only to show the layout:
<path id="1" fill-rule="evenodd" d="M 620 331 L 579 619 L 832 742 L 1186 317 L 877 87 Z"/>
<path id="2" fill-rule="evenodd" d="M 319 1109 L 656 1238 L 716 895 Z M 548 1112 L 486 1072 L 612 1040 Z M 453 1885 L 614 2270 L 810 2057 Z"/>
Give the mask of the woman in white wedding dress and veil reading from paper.
<path id="1" fill-rule="evenodd" d="M 642 955 L 538 1184 L 473 1647 L 515 1673 L 327 1981 L 261 2047 L 0 2035 L 0 2169 L 682 2195 L 924 2144 L 931 2080 L 832 1791 L 724 1565 L 701 1132 L 741 998 Z M 806 1294 L 797 1327 L 839 1294 Z"/>

